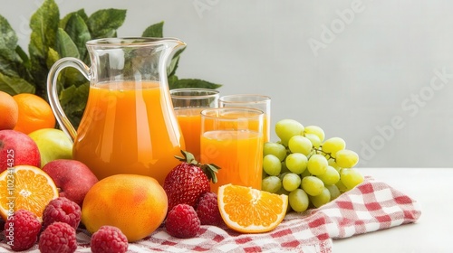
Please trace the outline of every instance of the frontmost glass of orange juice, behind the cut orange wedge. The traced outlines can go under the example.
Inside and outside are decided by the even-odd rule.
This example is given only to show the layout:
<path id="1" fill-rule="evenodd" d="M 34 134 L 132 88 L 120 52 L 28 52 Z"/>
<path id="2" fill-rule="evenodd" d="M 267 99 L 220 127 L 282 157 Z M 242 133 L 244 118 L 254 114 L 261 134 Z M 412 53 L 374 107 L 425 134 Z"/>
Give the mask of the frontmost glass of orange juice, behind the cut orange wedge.
<path id="1" fill-rule="evenodd" d="M 220 167 L 219 186 L 233 183 L 261 190 L 264 113 L 254 108 L 201 111 L 201 163 Z"/>

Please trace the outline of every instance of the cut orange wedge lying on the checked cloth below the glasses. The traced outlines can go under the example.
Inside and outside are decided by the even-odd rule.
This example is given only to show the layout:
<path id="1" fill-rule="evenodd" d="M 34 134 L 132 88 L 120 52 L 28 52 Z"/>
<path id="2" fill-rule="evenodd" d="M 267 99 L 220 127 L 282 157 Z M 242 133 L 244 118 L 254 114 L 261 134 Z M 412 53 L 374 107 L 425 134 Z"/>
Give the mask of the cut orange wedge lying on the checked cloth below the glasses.
<path id="1" fill-rule="evenodd" d="M 218 188 L 217 202 L 228 228 L 261 233 L 274 230 L 284 220 L 288 196 L 230 183 Z"/>

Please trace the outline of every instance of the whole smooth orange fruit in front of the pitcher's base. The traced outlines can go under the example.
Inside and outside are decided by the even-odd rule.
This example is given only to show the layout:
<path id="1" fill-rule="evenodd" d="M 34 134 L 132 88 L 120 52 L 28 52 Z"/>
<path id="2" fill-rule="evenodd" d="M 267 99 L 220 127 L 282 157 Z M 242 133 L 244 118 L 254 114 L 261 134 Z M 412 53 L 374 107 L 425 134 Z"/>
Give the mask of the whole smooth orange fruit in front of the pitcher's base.
<path id="1" fill-rule="evenodd" d="M 95 183 L 82 204 L 82 223 L 94 233 L 101 226 L 119 228 L 129 241 L 147 237 L 165 219 L 167 194 L 152 177 L 116 174 Z"/>

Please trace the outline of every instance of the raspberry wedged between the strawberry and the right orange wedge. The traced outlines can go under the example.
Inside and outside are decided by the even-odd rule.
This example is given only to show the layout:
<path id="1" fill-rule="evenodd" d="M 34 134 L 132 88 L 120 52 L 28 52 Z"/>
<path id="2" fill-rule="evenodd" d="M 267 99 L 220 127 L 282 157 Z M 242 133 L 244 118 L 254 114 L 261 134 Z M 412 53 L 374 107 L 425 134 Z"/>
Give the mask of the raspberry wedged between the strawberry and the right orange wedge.
<path id="1" fill-rule="evenodd" d="M 223 220 L 218 211 L 217 194 L 206 192 L 198 199 L 197 214 L 201 225 L 220 225 Z"/>

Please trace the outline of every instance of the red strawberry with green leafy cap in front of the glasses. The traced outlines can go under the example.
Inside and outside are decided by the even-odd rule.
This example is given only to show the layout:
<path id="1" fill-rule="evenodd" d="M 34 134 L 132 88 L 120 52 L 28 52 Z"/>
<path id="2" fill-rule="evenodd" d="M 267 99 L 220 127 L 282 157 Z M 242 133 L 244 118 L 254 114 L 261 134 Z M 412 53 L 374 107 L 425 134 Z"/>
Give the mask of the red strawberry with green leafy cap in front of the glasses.
<path id="1" fill-rule="evenodd" d="M 169 211 L 178 204 L 188 204 L 195 208 L 199 196 L 211 192 L 210 180 L 217 183 L 215 164 L 199 164 L 194 155 L 182 151 L 184 157 L 175 156 L 179 161 L 165 178 L 163 188 L 169 198 Z"/>

